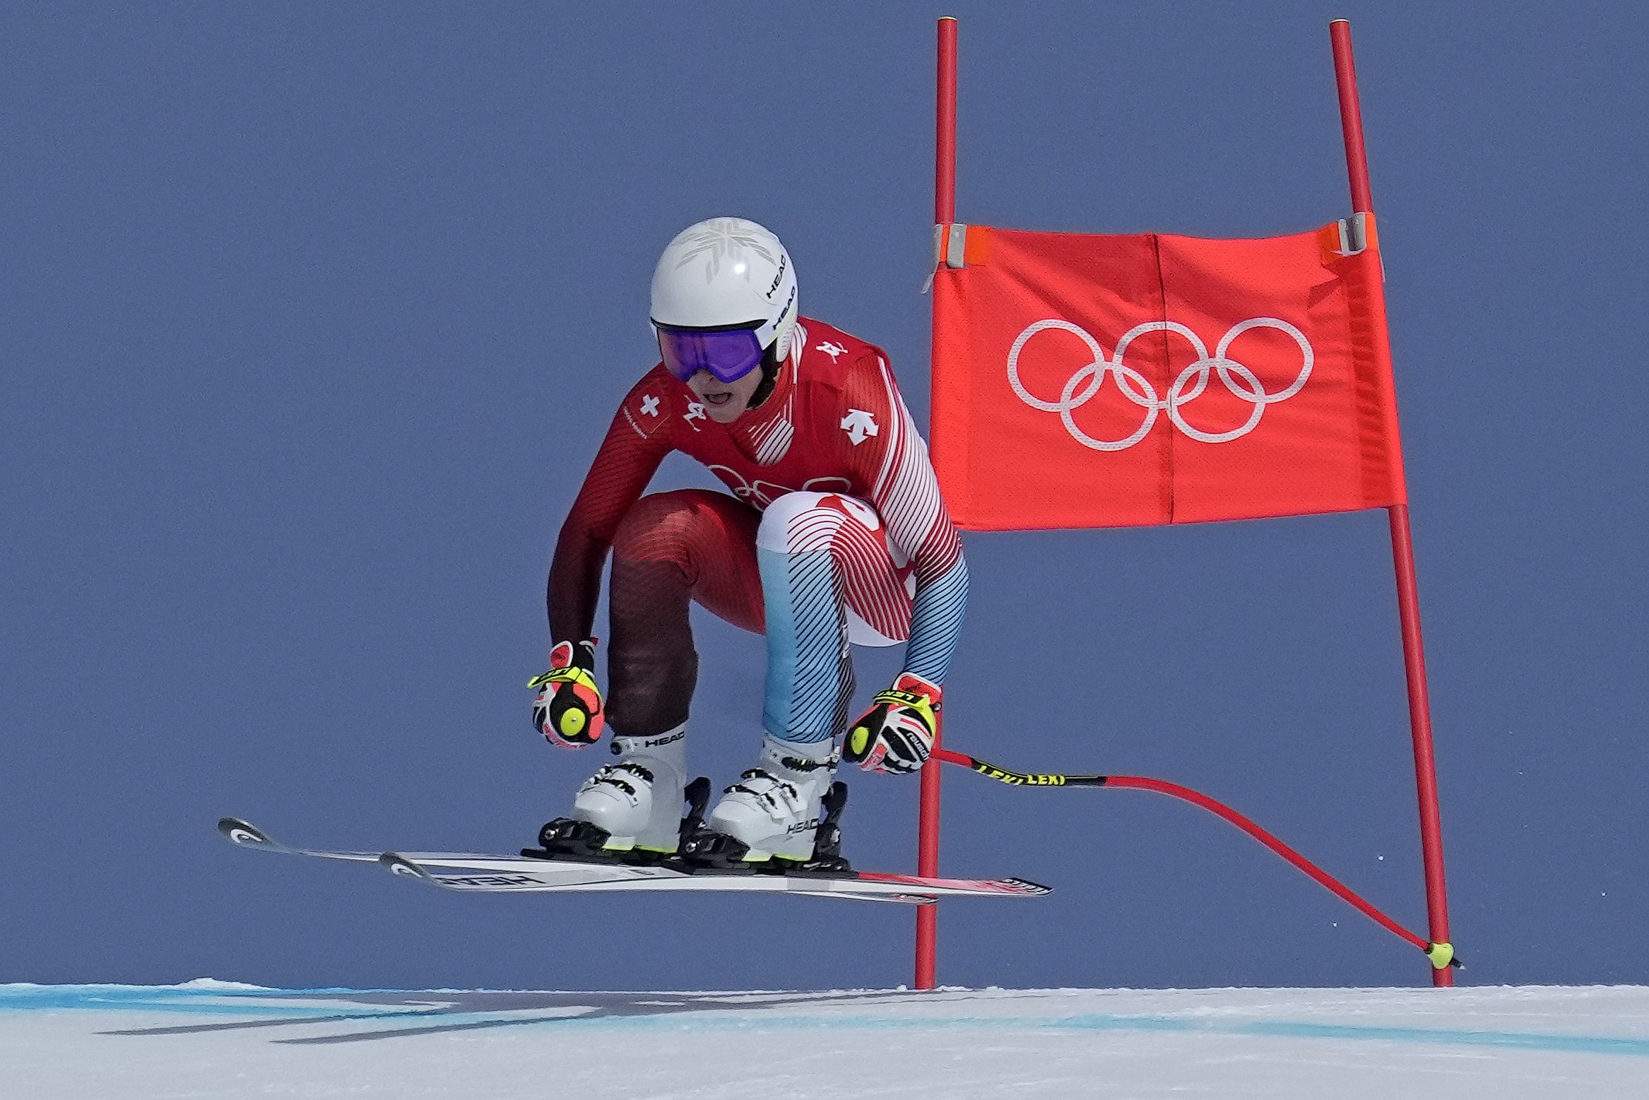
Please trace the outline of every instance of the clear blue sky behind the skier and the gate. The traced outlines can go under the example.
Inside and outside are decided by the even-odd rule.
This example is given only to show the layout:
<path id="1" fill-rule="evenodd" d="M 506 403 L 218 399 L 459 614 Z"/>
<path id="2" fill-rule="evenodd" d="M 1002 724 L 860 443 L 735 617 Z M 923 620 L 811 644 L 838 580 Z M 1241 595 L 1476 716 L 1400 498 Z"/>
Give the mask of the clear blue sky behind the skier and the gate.
<path id="1" fill-rule="evenodd" d="M 0 981 L 909 980 L 894 907 L 455 897 L 211 826 L 508 851 L 564 811 L 597 762 L 529 729 L 544 569 L 684 224 L 780 233 L 925 419 L 947 13 L 960 218 L 1200 236 L 1347 211 L 1352 20 L 1464 976 L 1649 981 L 1644 16 L 1360 0 L 8 8 Z M 1385 539 L 968 536 L 948 739 L 1207 790 L 1423 927 Z M 699 648 L 694 770 L 729 782 L 762 646 Z M 854 782 L 849 854 L 912 867 L 914 805 Z M 950 983 L 1425 980 L 1151 795 L 953 772 L 943 869 L 1057 887 L 948 904 Z"/>

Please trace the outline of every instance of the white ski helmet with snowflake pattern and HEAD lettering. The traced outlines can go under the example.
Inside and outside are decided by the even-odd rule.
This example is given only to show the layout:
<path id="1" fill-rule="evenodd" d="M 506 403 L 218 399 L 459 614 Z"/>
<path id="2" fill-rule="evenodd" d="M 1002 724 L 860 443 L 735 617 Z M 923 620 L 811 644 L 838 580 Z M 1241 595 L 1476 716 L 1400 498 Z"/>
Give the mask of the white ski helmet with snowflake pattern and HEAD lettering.
<path id="1" fill-rule="evenodd" d="M 653 325 L 714 331 L 749 328 L 773 361 L 790 355 L 796 269 L 772 233 L 744 218 L 688 226 L 653 269 Z"/>

